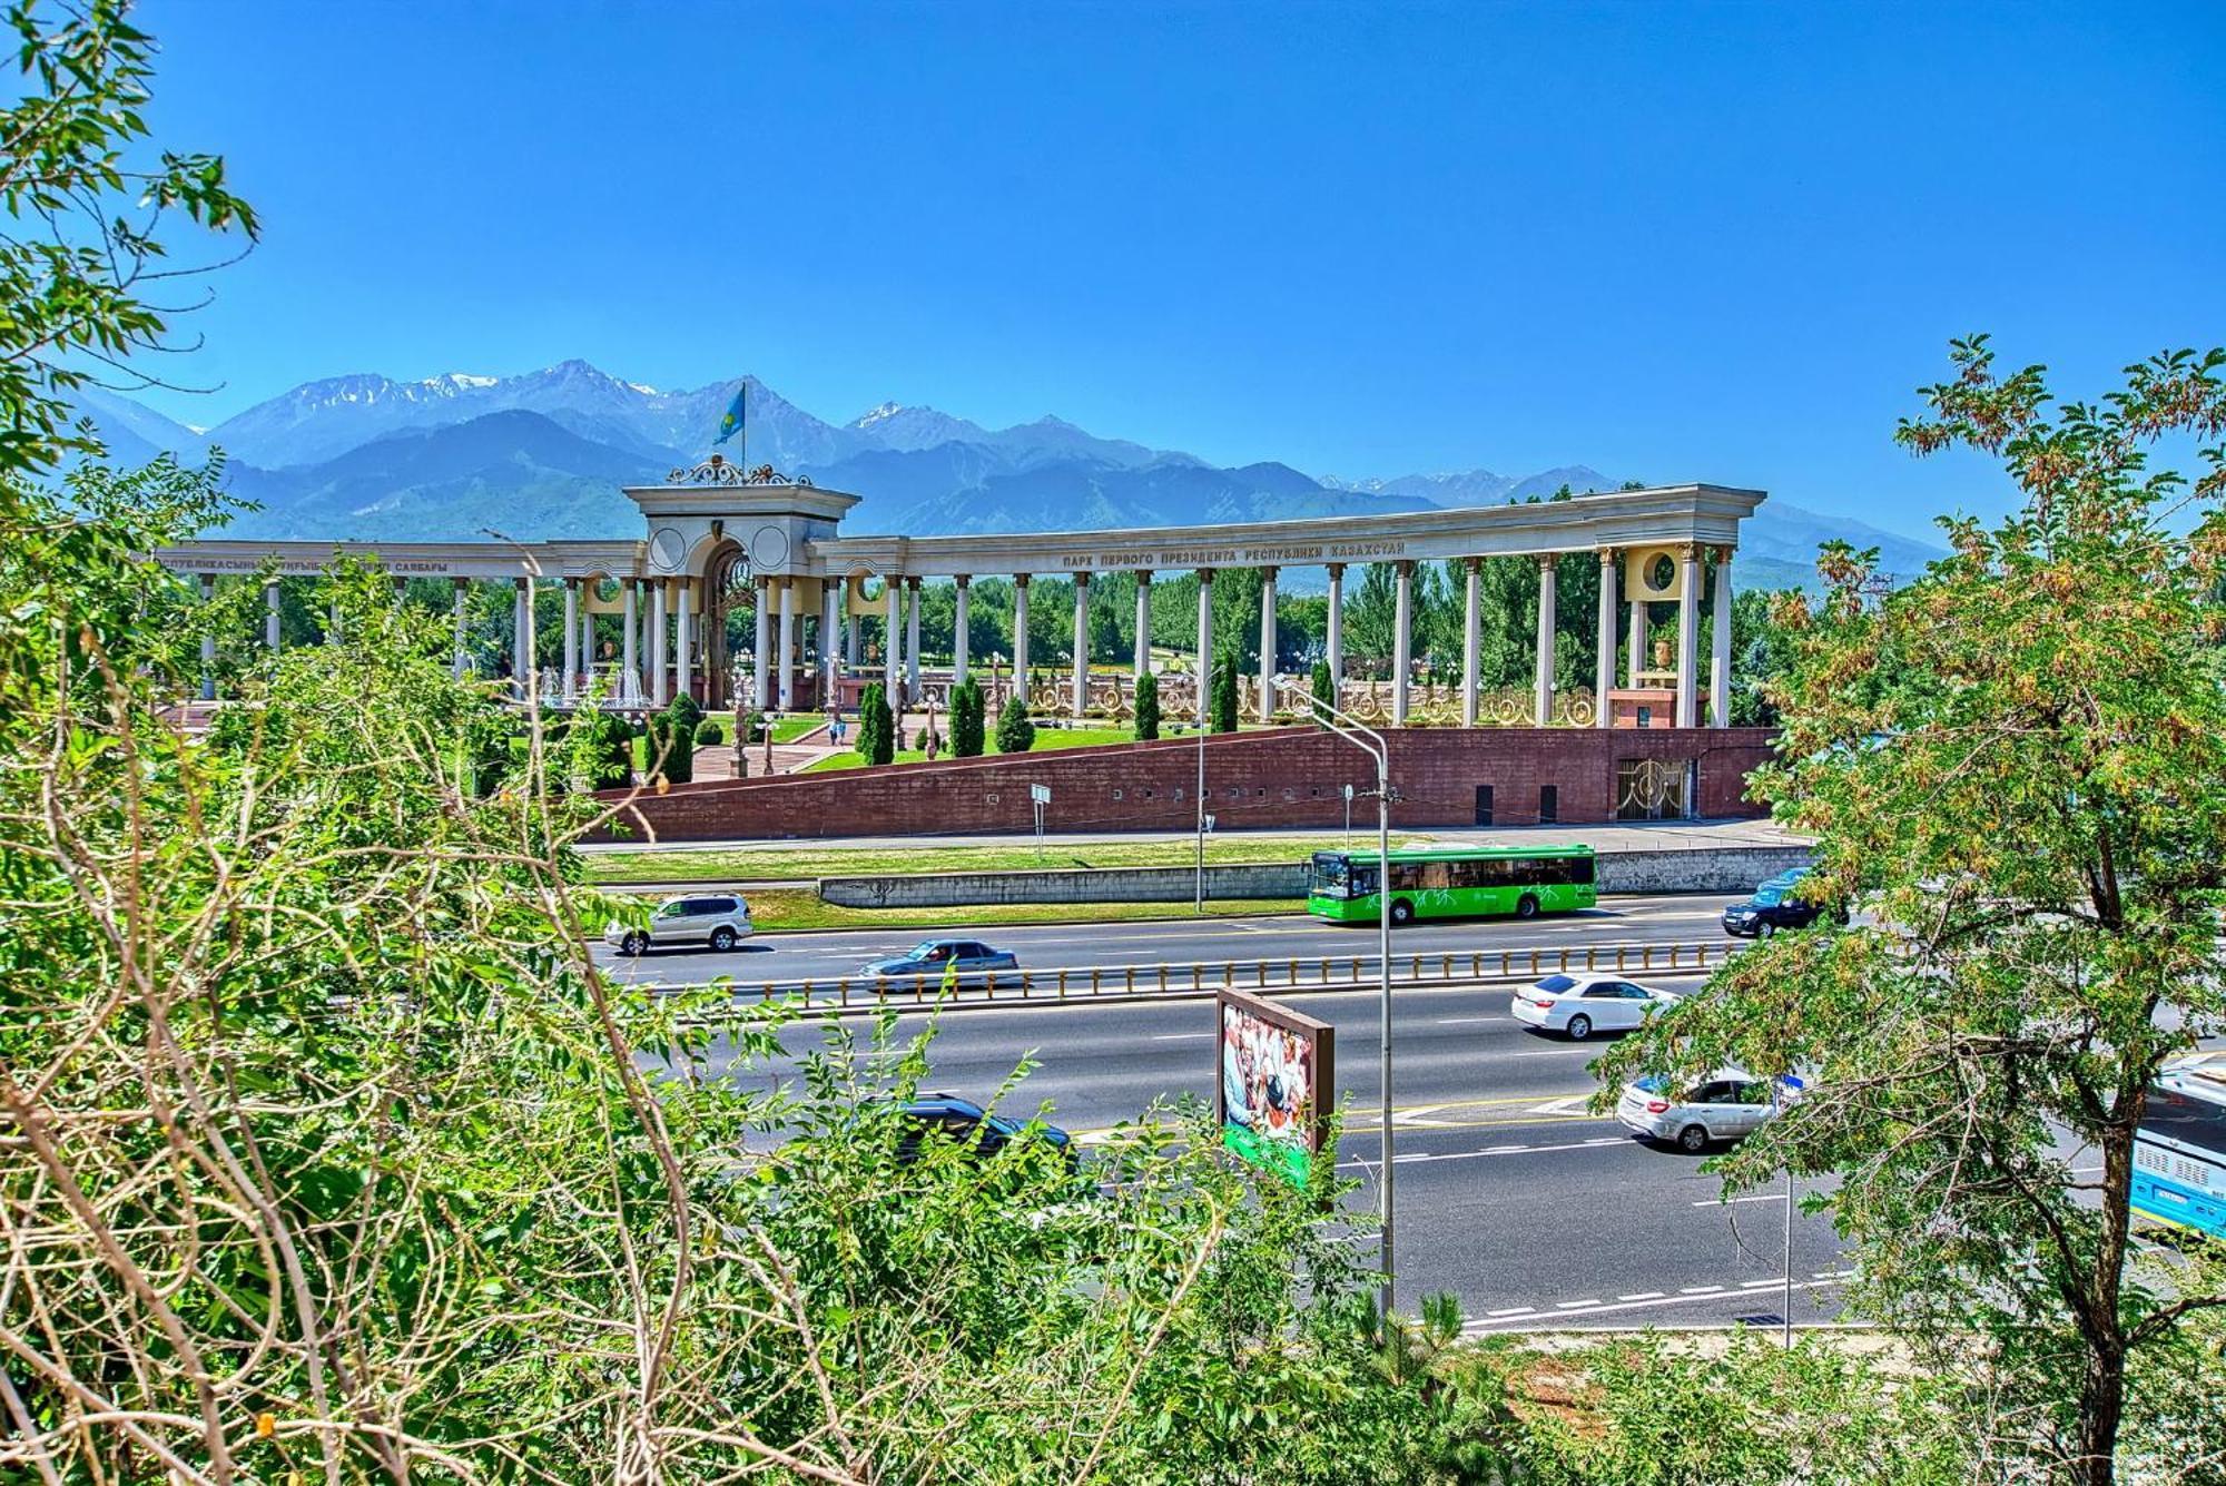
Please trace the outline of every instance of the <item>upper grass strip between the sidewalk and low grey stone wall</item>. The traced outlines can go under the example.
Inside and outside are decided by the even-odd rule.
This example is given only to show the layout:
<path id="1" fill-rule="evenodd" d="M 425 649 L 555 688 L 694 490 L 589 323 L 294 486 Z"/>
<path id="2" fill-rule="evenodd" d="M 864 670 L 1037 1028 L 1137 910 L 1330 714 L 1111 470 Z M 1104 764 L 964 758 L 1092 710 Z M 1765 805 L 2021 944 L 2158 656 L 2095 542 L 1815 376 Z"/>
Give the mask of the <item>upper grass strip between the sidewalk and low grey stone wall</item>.
<path id="1" fill-rule="evenodd" d="M 1353 836 L 1362 848 L 1367 832 Z M 1393 848 L 1427 845 L 1425 836 L 1393 836 Z M 1255 839 L 1213 836 L 1206 861 L 1240 865 L 1300 861 L 1313 852 L 1336 852 L 1345 836 Z M 864 848 L 864 845 L 766 845 L 766 848 L 668 848 L 654 852 L 590 852 L 588 879 L 605 885 L 670 881 L 775 881 L 817 876 L 919 876 L 926 872 L 1026 872 L 1031 868 L 1184 868 L 1195 861 L 1189 841 L 1093 841 L 1060 845 L 1048 841 L 1037 856 L 1031 839 L 997 845 Z"/>

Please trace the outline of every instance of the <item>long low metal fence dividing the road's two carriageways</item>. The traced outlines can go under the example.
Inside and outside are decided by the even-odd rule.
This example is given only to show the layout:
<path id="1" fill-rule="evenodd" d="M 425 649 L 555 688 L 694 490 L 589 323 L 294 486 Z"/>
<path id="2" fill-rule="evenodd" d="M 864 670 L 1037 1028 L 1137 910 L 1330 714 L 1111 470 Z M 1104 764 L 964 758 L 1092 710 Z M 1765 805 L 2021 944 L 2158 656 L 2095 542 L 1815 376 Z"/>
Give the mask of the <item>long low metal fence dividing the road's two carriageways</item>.
<path id="1" fill-rule="evenodd" d="M 1554 945 L 1531 950 L 1427 950 L 1391 954 L 1393 988 L 1525 983 L 1547 974 L 1703 974 L 1743 950 L 1743 941 Z M 712 981 L 717 983 L 717 981 Z M 815 1010 L 877 1012 L 933 1005 L 1066 1005 L 1089 1001 L 1178 1001 L 1222 988 L 1264 992 L 1338 992 L 1380 985 L 1373 954 L 1278 954 L 1209 959 L 1173 965 L 1082 965 L 1066 970 L 997 970 L 937 977 L 804 977 L 735 981 L 737 1001 L 806 1001 Z"/>

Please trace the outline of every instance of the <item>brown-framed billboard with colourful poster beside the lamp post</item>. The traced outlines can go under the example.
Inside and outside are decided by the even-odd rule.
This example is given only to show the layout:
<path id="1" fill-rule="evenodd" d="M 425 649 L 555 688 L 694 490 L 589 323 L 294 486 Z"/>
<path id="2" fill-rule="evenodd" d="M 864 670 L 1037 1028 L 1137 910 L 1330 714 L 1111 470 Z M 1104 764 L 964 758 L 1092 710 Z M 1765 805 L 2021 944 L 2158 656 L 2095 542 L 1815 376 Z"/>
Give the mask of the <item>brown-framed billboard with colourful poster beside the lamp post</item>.
<path id="1" fill-rule="evenodd" d="M 1213 1019 L 1222 1146 L 1307 1186 L 1329 1137 L 1336 1028 L 1242 990 L 1220 990 Z"/>

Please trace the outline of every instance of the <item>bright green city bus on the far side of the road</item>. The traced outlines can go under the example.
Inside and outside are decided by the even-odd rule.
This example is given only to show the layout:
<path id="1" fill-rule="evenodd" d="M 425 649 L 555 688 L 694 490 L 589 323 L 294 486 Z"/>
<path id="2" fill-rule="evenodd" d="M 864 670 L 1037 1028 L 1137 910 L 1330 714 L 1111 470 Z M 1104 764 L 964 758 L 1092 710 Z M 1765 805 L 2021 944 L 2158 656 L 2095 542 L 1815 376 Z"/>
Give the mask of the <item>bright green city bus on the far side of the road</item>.
<path id="1" fill-rule="evenodd" d="M 1376 923 L 1376 852 L 1316 852 L 1307 912 Z M 1391 923 L 1485 914 L 1565 914 L 1592 908 L 1589 845 L 1420 848 L 1391 852 Z"/>

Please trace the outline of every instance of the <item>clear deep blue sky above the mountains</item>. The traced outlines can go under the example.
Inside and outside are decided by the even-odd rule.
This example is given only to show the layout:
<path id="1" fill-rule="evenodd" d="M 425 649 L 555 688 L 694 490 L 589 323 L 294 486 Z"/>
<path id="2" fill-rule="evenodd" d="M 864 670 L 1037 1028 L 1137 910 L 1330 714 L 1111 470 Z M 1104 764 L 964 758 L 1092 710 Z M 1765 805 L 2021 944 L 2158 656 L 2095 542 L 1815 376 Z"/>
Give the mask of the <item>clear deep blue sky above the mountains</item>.
<path id="1" fill-rule="evenodd" d="M 2219 4 L 147 0 L 267 236 L 185 371 L 583 356 L 1309 474 L 1589 463 L 1923 532 L 1946 340 L 2226 340 Z"/>

